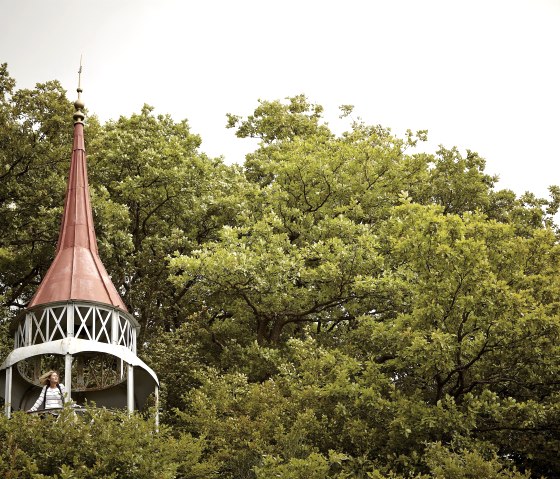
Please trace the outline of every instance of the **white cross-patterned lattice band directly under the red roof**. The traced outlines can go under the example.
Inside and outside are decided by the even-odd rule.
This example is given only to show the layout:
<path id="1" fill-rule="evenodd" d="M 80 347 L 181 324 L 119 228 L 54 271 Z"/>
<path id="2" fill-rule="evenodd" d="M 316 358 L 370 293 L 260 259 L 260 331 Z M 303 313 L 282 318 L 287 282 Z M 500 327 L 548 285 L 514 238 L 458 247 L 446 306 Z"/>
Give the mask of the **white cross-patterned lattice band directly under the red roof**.
<path id="1" fill-rule="evenodd" d="M 130 316 L 95 303 L 65 303 L 38 307 L 22 317 L 14 347 L 32 346 L 68 337 L 125 346 L 136 354 L 136 329 Z"/>

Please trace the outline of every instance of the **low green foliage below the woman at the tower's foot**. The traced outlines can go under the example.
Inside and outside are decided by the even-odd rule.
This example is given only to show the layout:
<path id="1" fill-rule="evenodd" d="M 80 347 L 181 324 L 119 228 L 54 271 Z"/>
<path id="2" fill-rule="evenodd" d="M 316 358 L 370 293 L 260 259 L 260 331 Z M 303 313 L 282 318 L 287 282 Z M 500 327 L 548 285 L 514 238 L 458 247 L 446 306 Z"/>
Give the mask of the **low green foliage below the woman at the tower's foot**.
<path id="1" fill-rule="evenodd" d="M 41 419 L 16 413 L 0 419 L 0 475 L 29 478 L 208 478 L 216 465 L 203 459 L 205 444 L 174 437 L 152 420 L 125 413 L 72 410 Z"/>

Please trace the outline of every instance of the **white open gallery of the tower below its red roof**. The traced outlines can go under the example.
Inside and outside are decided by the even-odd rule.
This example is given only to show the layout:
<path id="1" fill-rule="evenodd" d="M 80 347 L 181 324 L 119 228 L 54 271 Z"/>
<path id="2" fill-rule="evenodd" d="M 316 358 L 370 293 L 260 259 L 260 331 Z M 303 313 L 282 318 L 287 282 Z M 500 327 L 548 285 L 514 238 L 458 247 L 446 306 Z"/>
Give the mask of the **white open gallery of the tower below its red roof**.
<path id="1" fill-rule="evenodd" d="M 132 410 L 157 395 L 159 383 L 136 356 L 139 330 L 132 315 L 106 303 L 75 300 L 29 308 L 12 323 L 14 349 L 0 367 L 6 371 L 0 389 L 14 409 L 28 409 L 48 363 L 64 371 L 74 401 Z"/>

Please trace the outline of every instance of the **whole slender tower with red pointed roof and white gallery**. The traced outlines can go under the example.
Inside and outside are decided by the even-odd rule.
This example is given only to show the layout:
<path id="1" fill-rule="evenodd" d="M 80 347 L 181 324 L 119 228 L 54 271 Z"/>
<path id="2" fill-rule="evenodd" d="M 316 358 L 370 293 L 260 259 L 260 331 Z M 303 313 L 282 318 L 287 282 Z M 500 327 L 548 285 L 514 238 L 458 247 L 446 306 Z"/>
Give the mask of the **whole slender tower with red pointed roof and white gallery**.
<path id="1" fill-rule="evenodd" d="M 38 397 L 41 369 L 60 365 L 68 396 L 78 403 L 141 408 L 156 374 L 136 356 L 138 321 L 107 274 L 97 250 L 84 145 L 79 71 L 74 140 L 55 258 L 35 295 L 12 324 L 14 349 L 0 366 L 5 414 Z M 52 366 L 51 366 L 52 367 Z M 49 367 L 50 368 L 50 367 Z"/>

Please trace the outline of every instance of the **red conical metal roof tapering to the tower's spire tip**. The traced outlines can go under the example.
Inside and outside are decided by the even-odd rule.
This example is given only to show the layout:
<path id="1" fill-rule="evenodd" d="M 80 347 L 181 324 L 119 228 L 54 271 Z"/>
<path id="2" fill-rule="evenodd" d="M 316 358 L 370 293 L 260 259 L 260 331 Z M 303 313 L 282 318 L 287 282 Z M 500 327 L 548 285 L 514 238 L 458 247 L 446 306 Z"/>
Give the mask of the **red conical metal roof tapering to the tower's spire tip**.
<path id="1" fill-rule="evenodd" d="M 28 307 L 86 300 L 126 311 L 97 250 L 87 177 L 81 88 L 74 104 L 74 146 L 56 257 Z"/>

